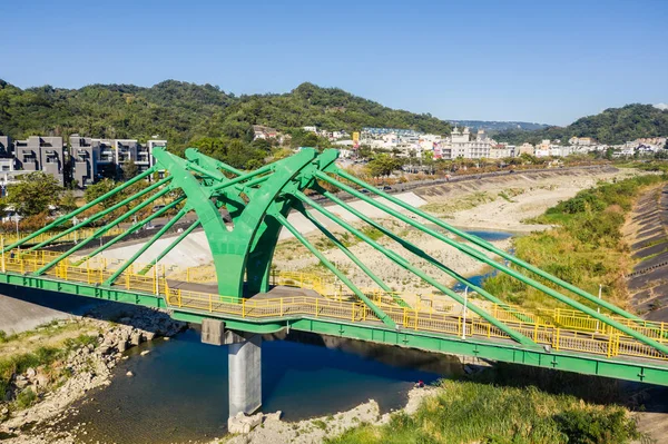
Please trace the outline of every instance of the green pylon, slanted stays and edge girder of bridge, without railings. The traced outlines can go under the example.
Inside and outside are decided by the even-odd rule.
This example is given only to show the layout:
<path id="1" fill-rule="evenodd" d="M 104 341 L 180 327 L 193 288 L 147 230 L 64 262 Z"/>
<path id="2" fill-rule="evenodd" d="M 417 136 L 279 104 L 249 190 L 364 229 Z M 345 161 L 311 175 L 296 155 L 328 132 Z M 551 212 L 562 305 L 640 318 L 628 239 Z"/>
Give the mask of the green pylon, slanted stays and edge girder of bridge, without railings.
<path id="1" fill-rule="evenodd" d="M 365 341 L 415 346 L 448 353 L 461 353 L 491 359 L 549 366 L 552 368 L 668 385 L 668 367 L 664 368 L 660 364 L 652 362 L 648 365 L 640 365 L 635 362 L 612 362 L 609 358 L 543 351 L 531 338 L 492 316 L 482 306 L 477 305 L 475 300 L 480 298 L 490 300 L 498 304 L 501 308 L 509 310 L 519 320 L 524 320 L 524 315 L 514 313 L 511 307 L 504 305 L 494 295 L 475 286 L 469 279 L 451 269 L 446 264 L 442 264 L 418 246 L 392 233 L 383 224 L 351 206 L 343 198 L 343 193 L 383 211 L 387 217 L 393 217 L 407 224 L 428 234 L 434 240 L 442 241 L 475 258 L 481 264 L 487 264 L 500 273 L 517 278 L 539 289 L 547 296 L 576 310 L 582 312 L 668 356 L 668 347 L 665 344 L 631 327 L 635 322 L 641 320 L 637 316 L 536 268 L 511 254 L 495 248 L 490 243 L 477 236 L 452 227 L 443 220 L 410 206 L 395 196 L 389 195 L 360 180 L 335 165 L 337 158 L 336 150 L 325 150 L 318 154 L 315 149 L 305 148 L 292 157 L 266 165 L 254 171 L 238 170 L 207 157 L 194 148 L 186 150 L 185 158 L 175 156 L 161 148 L 156 148 L 154 149 L 154 157 L 156 165 L 149 170 L 84 207 L 57 218 L 45 228 L 11 245 L 7 245 L 3 253 L 18 248 L 21 251 L 37 250 L 48 248 L 58 243 L 67 234 L 84 227 L 98 227 L 92 236 L 70 246 L 69 249 L 61 253 L 36 273 L 29 275 L 0 274 L 0 283 L 153 307 L 166 307 L 163 297 L 131 294 L 126 289 L 120 289 L 120 287 L 117 288 L 115 282 L 130 265 L 154 246 L 156 241 L 167 236 L 169 229 L 179 219 L 188 214 L 194 214 L 195 221 L 180 233 L 179 236 L 170 239 L 168 246 L 159 251 L 139 274 L 148 273 L 163 257 L 184 240 L 188 234 L 200 228 L 205 233 L 214 259 L 219 295 L 233 297 L 240 302 L 244 297 L 265 293 L 269 289 L 269 275 L 274 250 L 278 241 L 278 235 L 285 228 L 316 256 L 321 264 L 336 276 L 342 285 L 345 285 L 355 294 L 383 324 L 366 326 L 358 324 L 348 325 L 342 322 L 323 318 L 310 319 L 306 317 L 269 319 L 259 323 L 252 319 L 236 319 L 232 315 L 203 314 L 193 309 L 175 310 L 175 317 L 188 320 L 202 319 L 206 316 L 226 317 L 226 323 L 229 327 L 253 332 L 276 330 L 289 325 L 292 328 L 313 330 L 322 334 L 334 334 Z M 165 177 L 161 179 L 156 178 L 160 172 Z M 353 224 L 344 220 L 335 211 L 328 209 L 327 204 L 335 204 L 340 208 L 353 214 L 365 225 L 380 230 L 394 240 L 401 246 L 401 249 L 397 251 L 387 247 L 384 243 L 374 240 L 363 229 L 353 226 Z M 151 206 L 154 207 L 153 213 L 149 211 Z M 470 292 L 475 293 L 479 298 L 469 299 L 466 302 L 468 308 L 505 333 L 514 343 L 485 343 L 449 338 L 444 335 L 425 335 L 419 332 L 401 330 L 383 312 L 382 306 L 374 304 L 288 220 L 288 215 L 293 209 L 302 214 L 316 229 L 323 233 L 379 288 L 389 293 L 391 290 L 387 283 L 384 283 L 345 246 L 335 234 L 336 230 L 325 226 L 323 218 L 328 220 L 333 226 L 337 226 L 340 229 L 357 237 L 361 241 L 369 244 L 385 256 L 389 264 L 404 268 L 454 302 L 464 304 L 462 295 L 453 292 L 438 278 L 432 277 L 431 274 L 414 265 L 410 260 L 410 257 L 418 257 L 425 260 L 430 266 L 468 286 Z M 69 221 L 73 217 L 81 217 L 82 214 L 89 215 L 91 211 L 96 213 L 85 218 L 81 223 L 69 227 Z M 318 215 L 320 219 L 315 214 Z M 141 220 L 137 220 L 137 216 L 139 215 L 144 215 Z M 59 282 L 46 275 L 62 260 L 68 260 L 68 257 L 73 253 L 95 245 L 96 248 L 87 253 L 77 264 L 91 259 L 114 244 L 127 239 L 127 236 L 138 231 L 146 224 L 160 217 L 168 217 L 169 219 L 135 255 L 117 268 L 102 285 Z M 424 221 L 419 221 L 419 219 L 423 219 Z M 127 228 L 125 233 L 110 239 L 109 236 L 106 237 L 106 234 L 110 229 L 121 224 L 125 224 Z M 40 235 L 50 235 L 50 237 L 39 243 L 33 240 Z M 462 239 L 466 243 L 462 241 Z M 97 241 L 99 241 L 99 246 Z M 499 259 L 505 259 L 512 263 L 512 266 L 503 265 Z M 399 296 L 393 294 L 393 297 L 397 305 L 406 306 L 406 303 Z M 584 305 L 582 299 L 588 302 L 589 305 Z M 596 308 L 591 308 L 591 306 Z M 601 310 L 602 313 L 599 313 Z M 630 319 L 631 326 L 629 326 L 629 323 L 622 324 L 617 322 L 606 313 Z"/>

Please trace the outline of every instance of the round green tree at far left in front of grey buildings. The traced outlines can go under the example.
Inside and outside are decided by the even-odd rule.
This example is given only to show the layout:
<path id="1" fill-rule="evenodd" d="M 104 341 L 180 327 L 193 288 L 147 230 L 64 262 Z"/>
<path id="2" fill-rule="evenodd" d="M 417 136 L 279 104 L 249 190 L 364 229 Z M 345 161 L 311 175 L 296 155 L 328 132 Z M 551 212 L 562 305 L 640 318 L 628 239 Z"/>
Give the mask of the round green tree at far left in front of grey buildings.
<path id="1" fill-rule="evenodd" d="M 52 176 L 42 171 L 22 175 L 7 190 L 7 203 L 21 216 L 36 216 L 57 206 L 63 188 Z"/>

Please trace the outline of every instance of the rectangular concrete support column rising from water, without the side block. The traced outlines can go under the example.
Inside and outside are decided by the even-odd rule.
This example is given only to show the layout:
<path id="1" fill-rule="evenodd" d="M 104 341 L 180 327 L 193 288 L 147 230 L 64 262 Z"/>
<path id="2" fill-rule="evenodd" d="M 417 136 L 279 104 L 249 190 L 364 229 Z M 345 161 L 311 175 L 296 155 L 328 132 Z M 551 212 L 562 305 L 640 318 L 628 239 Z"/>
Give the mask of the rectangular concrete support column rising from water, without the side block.
<path id="1" fill-rule="evenodd" d="M 229 417 L 255 413 L 262 405 L 262 336 L 235 336 L 225 341 L 229 344 Z"/>

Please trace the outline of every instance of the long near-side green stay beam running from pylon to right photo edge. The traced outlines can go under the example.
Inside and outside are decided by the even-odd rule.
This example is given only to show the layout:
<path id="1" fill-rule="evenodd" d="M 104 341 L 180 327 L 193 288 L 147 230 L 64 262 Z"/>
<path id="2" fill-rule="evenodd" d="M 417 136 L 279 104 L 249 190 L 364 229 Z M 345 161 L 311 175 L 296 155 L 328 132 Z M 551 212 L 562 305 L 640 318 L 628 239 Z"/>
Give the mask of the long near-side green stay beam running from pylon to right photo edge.
<path id="1" fill-rule="evenodd" d="M 364 194 L 357 191 L 356 189 L 348 187 L 345 184 L 342 184 L 341 181 L 327 176 L 324 172 L 316 171 L 315 175 L 320 179 L 322 179 L 331 185 L 334 185 L 335 187 L 341 188 L 342 190 L 360 198 L 361 200 L 366 201 L 367 204 L 371 204 L 372 206 L 374 206 L 379 209 L 382 209 L 383 211 L 387 213 L 389 215 L 396 217 L 397 219 L 420 229 L 423 233 L 426 233 L 430 236 L 435 237 L 439 240 L 444 241 L 445 244 L 459 249 L 460 251 L 465 253 L 466 255 L 474 257 L 475 259 L 478 259 L 482 263 L 485 263 L 485 264 L 499 269 L 500 272 L 502 272 L 509 276 L 512 276 L 512 277 L 519 279 L 520 282 L 523 282 L 527 285 L 532 286 L 533 288 L 571 306 L 572 308 L 574 308 L 577 310 L 586 313 L 587 315 L 609 325 L 610 327 L 617 328 L 618 330 L 626 333 L 627 335 L 641 342 L 642 344 L 649 345 L 650 347 L 656 348 L 657 351 L 661 352 L 664 355 L 668 356 L 668 346 L 660 344 L 659 342 L 657 342 L 650 337 L 647 337 L 646 335 L 644 335 L 630 327 L 627 327 L 626 325 L 620 324 L 619 322 L 611 319 L 608 316 L 605 316 L 605 315 L 598 313 L 597 310 L 591 309 L 590 307 L 569 298 L 566 295 L 562 295 L 561 293 L 548 287 L 547 285 L 543 285 L 537 280 L 533 280 L 530 277 L 524 276 L 521 273 L 513 270 L 512 268 L 505 267 L 504 265 L 494 262 L 493 259 L 487 257 L 482 251 L 471 248 L 468 245 L 460 244 L 453 239 L 450 239 L 448 236 L 442 235 L 441 233 L 434 231 L 433 229 L 425 227 L 424 225 L 411 219 L 410 217 L 404 216 L 400 211 L 396 211 L 396 210 L 387 207 L 386 205 L 383 205 L 381 203 L 373 200 L 369 196 L 365 196 Z"/>

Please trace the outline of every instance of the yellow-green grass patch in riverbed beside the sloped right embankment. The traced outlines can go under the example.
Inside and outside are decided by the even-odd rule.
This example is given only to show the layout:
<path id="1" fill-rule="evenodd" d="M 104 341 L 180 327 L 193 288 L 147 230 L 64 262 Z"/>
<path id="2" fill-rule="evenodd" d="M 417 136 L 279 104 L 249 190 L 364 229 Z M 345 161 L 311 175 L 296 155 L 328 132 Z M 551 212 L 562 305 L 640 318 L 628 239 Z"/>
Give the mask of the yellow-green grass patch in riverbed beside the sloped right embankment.
<path id="1" fill-rule="evenodd" d="M 626 214 L 644 189 L 666 180 L 666 175 L 638 176 L 578 193 L 529 220 L 558 227 L 515 239 L 515 256 L 591 294 L 598 294 L 602 285 L 606 299 L 625 305 L 627 288 L 622 276 L 632 265 L 621 235 Z M 531 277 L 556 288 L 546 279 Z M 562 306 L 504 274 L 488 278 L 483 286 L 503 300 L 529 308 Z"/>

